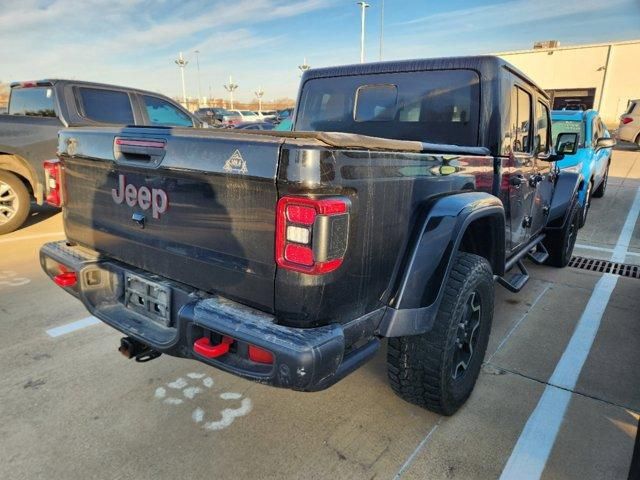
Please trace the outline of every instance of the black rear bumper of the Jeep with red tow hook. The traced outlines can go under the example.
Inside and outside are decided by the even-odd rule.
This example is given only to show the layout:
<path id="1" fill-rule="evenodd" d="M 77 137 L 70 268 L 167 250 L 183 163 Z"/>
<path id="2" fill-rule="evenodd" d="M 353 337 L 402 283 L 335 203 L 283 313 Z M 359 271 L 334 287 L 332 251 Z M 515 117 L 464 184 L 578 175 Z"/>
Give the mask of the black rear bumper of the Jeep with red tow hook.
<path id="1" fill-rule="evenodd" d="M 301 391 L 327 388 L 345 377 L 377 352 L 374 336 L 382 311 L 346 325 L 289 328 L 275 318 L 219 296 L 200 292 L 148 272 L 100 257 L 94 251 L 65 242 L 45 244 L 40 250 L 43 270 L 53 278 L 60 265 L 75 272 L 75 285 L 64 286 L 97 318 L 158 352 L 192 358 L 235 375 L 268 385 Z M 166 319 L 125 307 L 125 279 L 135 275 L 170 292 Z M 194 351 L 194 342 L 208 337 L 234 340 L 231 350 L 216 358 Z M 272 363 L 254 362 L 249 346 L 272 354 Z"/>

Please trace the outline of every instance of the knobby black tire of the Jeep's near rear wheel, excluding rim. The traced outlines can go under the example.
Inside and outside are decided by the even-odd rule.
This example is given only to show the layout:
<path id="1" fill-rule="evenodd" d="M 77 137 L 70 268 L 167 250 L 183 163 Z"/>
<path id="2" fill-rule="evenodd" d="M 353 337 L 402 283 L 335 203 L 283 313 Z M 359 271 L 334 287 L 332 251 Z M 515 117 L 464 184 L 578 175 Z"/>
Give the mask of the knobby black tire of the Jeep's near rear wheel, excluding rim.
<path id="1" fill-rule="evenodd" d="M 489 262 L 478 255 L 458 253 L 444 285 L 433 329 L 389 339 L 387 372 L 392 390 L 404 400 L 436 413 L 454 414 L 469 398 L 478 379 L 491 331 L 493 297 Z M 460 354 L 459 329 L 468 313 L 469 299 L 472 305 L 474 301 L 480 305 L 476 340 L 466 368 L 454 378 L 454 361 Z"/>

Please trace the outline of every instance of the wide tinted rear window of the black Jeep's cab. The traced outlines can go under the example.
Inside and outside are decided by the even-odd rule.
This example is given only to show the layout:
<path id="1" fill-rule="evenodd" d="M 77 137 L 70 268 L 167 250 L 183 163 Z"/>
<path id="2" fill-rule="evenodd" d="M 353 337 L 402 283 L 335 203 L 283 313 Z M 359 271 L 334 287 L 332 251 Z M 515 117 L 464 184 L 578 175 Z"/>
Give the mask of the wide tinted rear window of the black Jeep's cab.
<path id="1" fill-rule="evenodd" d="M 431 70 L 309 80 L 295 130 L 478 145 L 480 79 L 472 70 Z"/>

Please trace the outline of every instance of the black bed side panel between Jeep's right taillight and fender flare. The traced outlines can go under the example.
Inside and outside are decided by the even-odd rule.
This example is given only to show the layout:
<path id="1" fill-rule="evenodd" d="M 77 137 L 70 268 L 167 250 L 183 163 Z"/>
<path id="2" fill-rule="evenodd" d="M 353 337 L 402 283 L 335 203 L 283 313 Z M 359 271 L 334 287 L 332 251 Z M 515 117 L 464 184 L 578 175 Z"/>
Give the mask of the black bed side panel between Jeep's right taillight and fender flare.
<path id="1" fill-rule="evenodd" d="M 350 228 L 342 266 L 313 276 L 279 268 L 275 310 L 291 326 L 344 323 L 389 302 L 393 277 L 429 200 L 492 192 L 493 157 L 297 148 L 285 145 L 283 195 L 343 195 Z"/>

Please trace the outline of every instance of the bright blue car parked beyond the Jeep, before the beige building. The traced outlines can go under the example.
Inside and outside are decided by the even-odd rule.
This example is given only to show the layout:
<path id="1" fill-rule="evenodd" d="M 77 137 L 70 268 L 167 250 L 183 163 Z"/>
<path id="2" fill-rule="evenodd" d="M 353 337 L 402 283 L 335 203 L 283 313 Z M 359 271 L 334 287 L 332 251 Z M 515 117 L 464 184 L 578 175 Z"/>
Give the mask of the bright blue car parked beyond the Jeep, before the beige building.
<path id="1" fill-rule="evenodd" d="M 598 140 L 611 138 L 611 135 L 595 110 L 554 110 L 551 112 L 551 121 L 554 143 L 560 133 L 578 134 L 576 152 L 571 155 L 565 154 L 564 159 L 558 162 L 558 167 L 561 170 L 582 174 L 583 182 L 580 185 L 578 200 L 582 208 L 580 227 L 583 227 L 591 199 L 602 197 L 607 188 L 611 146 L 603 146 L 605 142 L 599 143 Z"/>

